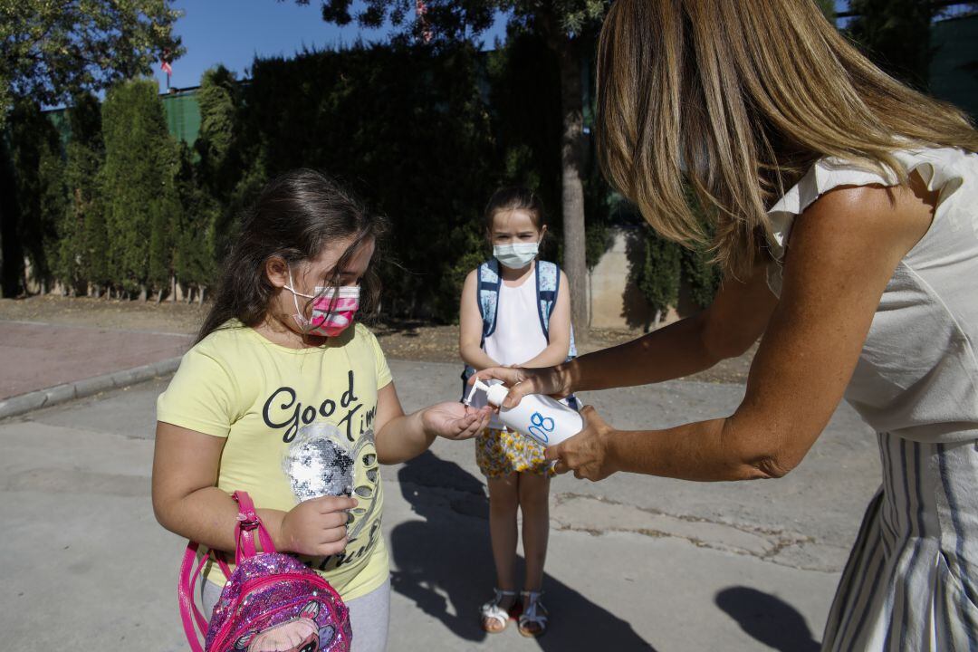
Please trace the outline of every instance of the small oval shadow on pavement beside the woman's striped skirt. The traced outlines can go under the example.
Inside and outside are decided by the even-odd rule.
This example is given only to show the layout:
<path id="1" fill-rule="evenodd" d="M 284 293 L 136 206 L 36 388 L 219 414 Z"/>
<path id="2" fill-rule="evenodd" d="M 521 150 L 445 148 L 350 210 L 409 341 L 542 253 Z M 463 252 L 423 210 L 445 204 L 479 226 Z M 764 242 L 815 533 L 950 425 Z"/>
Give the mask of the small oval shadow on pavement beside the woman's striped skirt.
<path id="1" fill-rule="evenodd" d="M 717 593 L 717 606 L 741 630 L 782 652 L 819 652 L 821 643 L 805 618 L 787 602 L 756 588 L 730 587 Z"/>

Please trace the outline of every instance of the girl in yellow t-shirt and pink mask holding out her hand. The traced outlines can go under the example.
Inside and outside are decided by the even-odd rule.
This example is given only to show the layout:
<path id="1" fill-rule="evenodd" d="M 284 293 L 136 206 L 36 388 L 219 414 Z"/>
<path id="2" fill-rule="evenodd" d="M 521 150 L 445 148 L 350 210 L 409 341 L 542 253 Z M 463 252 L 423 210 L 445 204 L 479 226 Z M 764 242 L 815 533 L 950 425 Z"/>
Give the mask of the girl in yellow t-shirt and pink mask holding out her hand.
<path id="1" fill-rule="evenodd" d="M 489 410 L 405 414 L 377 339 L 371 260 L 385 221 L 332 180 L 296 170 L 245 216 L 214 306 L 156 406 L 153 505 L 168 530 L 234 550 L 246 491 L 280 551 L 347 602 L 357 652 L 382 650 L 390 583 L 378 464 L 467 439 Z M 205 608 L 225 578 L 206 570 Z"/>

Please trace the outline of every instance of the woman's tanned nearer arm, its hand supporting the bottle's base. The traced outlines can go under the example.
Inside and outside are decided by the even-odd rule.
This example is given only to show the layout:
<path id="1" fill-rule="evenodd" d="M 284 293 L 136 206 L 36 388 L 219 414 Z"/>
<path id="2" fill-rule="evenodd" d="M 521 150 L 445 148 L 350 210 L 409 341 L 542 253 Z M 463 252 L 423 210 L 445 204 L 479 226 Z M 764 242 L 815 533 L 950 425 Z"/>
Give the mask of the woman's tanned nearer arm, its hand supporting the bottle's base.
<path id="1" fill-rule="evenodd" d="M 732 416 L 617 432 L 592 411 L 588 428 L 548 456 L 592 479 L 615 470 L 689 480 L 784 475 L 842 399 L 880 296 L 931 215 L 932 204 L 910 189 L 822 197 L 795 224 L 780 301 Z"/>

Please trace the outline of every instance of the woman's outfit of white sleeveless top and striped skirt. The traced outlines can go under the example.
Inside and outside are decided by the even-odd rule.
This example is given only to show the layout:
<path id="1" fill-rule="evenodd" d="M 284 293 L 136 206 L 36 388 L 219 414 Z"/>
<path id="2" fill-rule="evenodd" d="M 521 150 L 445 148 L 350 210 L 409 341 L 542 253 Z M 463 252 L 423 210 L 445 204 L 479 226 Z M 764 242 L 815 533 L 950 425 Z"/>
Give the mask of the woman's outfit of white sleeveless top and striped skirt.
<path id="1" fill-rule="evenodd" d="M 822 650 L 978 652 L 978 155 L 945 148 L 898 159 L 939 199 L 886 286 L 846 390 L 878 433 L 883 482 Z M 895 183 L 818 162 L 769 211 L 778 259 L 794 217 L 823 193 Z M 780 272 L 776 263 L 769 274 L 776 293 Z"/>

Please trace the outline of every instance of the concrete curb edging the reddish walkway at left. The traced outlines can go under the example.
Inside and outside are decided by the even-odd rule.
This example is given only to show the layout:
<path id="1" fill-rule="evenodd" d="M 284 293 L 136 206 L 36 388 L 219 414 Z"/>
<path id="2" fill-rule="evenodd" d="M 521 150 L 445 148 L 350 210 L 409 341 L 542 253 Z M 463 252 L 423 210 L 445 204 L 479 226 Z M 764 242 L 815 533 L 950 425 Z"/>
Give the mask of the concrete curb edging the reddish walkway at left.
<path id="1" fill-rule="evenodd" d="M 50 408 L 67 401 L 83 399 L 94 396 L 100 392 L 110 389 L 120 389 L 139 382 L 152 380 L 157 376 L 173 373 L 180 367 L 181 358 L 170 358 L 161 360 L 158 363 L 134 367 L 132 369 L 122 369 L 112 371 L 104 375 L 97 375 L 91 378 L 83 378 L 62 385 L 55 385 L 47 389 L 38 389 L 26 394 L 12 396 L 8 399 L 0 400 L 0 420 L 11 416 Z"/>

